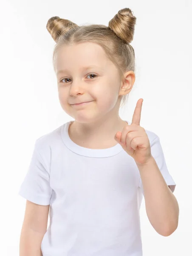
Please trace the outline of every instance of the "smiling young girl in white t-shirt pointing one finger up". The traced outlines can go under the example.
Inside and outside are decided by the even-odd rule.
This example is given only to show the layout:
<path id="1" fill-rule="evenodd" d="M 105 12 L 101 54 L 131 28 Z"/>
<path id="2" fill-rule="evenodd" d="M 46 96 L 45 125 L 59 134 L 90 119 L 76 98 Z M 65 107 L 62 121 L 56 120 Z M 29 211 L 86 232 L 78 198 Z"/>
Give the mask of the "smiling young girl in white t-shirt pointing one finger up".
<path id="1" fill-rule="evenodd" d="M 35 142 L 19 192 L 20 256 L 142 256 L 143 195 L 159 234 L 177 228 L 176 184 L 159 137 L 140 126 L 143 99 L 132 122 L 119 116 L 135 81 L 135 24 L 129 8 L 109 26 L 48 20 L 59 102 L 74 121 Z"/>

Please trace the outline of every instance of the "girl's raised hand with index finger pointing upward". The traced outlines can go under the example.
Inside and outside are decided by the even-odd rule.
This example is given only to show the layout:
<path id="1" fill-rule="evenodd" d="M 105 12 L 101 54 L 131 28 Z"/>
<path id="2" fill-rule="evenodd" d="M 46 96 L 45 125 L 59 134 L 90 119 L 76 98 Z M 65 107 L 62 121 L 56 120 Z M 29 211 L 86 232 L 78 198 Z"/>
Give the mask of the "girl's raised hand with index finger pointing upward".
<path id="1" fill-rule="evenodd" d="M 123 131 L 118 131 L 114 137 L 138 165 L 145 165 L 152 158 L 149 138 L 145 129 L 140 126 L 142 104 L 143 99 L 139 99 L 131 125 L 124 126 Z"/>

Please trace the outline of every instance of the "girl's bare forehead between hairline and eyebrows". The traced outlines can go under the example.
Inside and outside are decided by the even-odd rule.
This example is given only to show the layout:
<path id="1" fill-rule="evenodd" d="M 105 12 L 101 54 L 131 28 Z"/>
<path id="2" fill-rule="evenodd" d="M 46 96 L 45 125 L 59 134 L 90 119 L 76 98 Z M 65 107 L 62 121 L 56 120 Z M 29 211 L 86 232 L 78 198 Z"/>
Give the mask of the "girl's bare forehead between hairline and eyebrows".
<path id="1" fill-rule="evenodd" d="M 85 42 L 62 46 L 55 56 L 56 71 L 61 69 L 80 69 L 81 67 L 98 66 L 101 68 L 110 64 L 104 49 L 94 43 Z"/>

